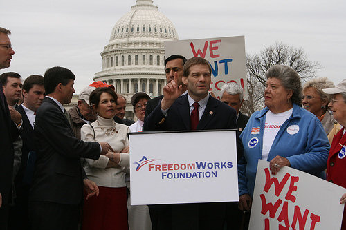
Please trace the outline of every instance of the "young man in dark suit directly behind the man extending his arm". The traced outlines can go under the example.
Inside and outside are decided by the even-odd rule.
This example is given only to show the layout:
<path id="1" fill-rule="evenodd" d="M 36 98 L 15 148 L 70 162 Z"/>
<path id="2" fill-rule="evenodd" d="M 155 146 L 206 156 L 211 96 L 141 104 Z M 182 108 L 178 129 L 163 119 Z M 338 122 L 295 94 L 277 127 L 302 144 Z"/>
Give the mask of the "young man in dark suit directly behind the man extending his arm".
<path id="1" fill-rule="evenodd" d="M 36 158 L 34 124 L 37 108 L 44 99 L 44 77 L 31 75 L 23 84 L 24 103 L 16 110 L 23 119 L 21 140 L 21 165 L 15 176 L 15 204 L 10 207 L 8 229 L 30 229 L 28 220 L 28 198 Z M 20 221 L 18 221 L 20 220 Z"/>

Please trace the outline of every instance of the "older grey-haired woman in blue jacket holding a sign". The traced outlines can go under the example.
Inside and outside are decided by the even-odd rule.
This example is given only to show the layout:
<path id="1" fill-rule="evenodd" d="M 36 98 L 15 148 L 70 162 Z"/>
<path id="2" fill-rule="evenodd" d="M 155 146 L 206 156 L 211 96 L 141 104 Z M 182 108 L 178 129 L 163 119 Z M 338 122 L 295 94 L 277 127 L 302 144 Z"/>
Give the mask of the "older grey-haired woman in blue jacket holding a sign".
<path id="1" fill-rule="evenodd" d="M 329 142 L 318 118 L 302 108 L 298 73 L 275 65 L 266 73 L 266 107 L 253 113 L 240 135 L 244 156 L 238 162 L 239 209 L 250 210 L 257 162 L 270 162 L 275 175 L 282 167 L 322 175 L 327 166 Z"/>

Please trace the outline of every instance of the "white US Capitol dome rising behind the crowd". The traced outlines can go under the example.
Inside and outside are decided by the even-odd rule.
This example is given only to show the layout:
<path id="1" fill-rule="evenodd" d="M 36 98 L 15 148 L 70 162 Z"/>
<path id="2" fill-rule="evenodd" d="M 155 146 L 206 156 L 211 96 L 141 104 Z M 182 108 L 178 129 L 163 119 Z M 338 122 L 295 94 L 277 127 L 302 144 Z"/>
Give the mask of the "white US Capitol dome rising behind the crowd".
<path id="1" fill-rule="evenodd" d="M 111 30 L 109 44 L 101 52 L 102 71 L 94 81 L 113 84 L 127 98 L 125 117 L 134 119 L 130 99 L 142 91 L 157 97 L 166 84 L 164 41 L 177 40 L 173 23 L 152 0 L 136 0 Z"/>

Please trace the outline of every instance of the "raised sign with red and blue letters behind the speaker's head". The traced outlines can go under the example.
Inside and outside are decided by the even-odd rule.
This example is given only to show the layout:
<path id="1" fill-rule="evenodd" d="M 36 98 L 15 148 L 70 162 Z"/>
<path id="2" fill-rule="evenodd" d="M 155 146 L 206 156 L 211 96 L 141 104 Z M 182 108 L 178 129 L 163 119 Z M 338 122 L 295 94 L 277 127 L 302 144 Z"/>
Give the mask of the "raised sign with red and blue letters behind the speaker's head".
<path id="1" fill-rule="evenodd" d="M 170 55 L 183 55 L 187 59 L 203 57 L 212 68 L 210 91 L 219 98 L 225 82 L 236 82 L 247 99 L 244 36 L 165 41 L 165 57 Z"/>

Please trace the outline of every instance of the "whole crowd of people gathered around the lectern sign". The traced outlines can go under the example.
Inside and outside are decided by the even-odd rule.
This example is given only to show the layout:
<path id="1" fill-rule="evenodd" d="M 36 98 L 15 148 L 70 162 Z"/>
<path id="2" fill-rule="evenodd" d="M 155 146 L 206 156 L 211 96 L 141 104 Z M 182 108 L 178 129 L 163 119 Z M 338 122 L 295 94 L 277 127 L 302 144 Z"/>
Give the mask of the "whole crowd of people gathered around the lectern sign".
<path id="1" fill-rule="evenodd" d="M 0 28 L 1 69 L 15 54 L 9 35 Z M 271 66 L 265 108 L 248 117 L 235 82 L 222 86 L 220 99 L 209 93 L 206 59 L 172 55 L 165 74 L 163 95 L 131 97 L 134 122 L 125 119 L 126 98 L 105 82 L 83 88 L 66 111 L 71 70 L 56 66 L 23 83 L 18 73 L 2 73 L 0 229 L 247 229 L 259 159 L 273 175 L 287 166 L 346 187 L 346 79 L 302 86 L 289 66 Z M 232 128 L 239 202 L 131 205 L 128 133 Z"/>

